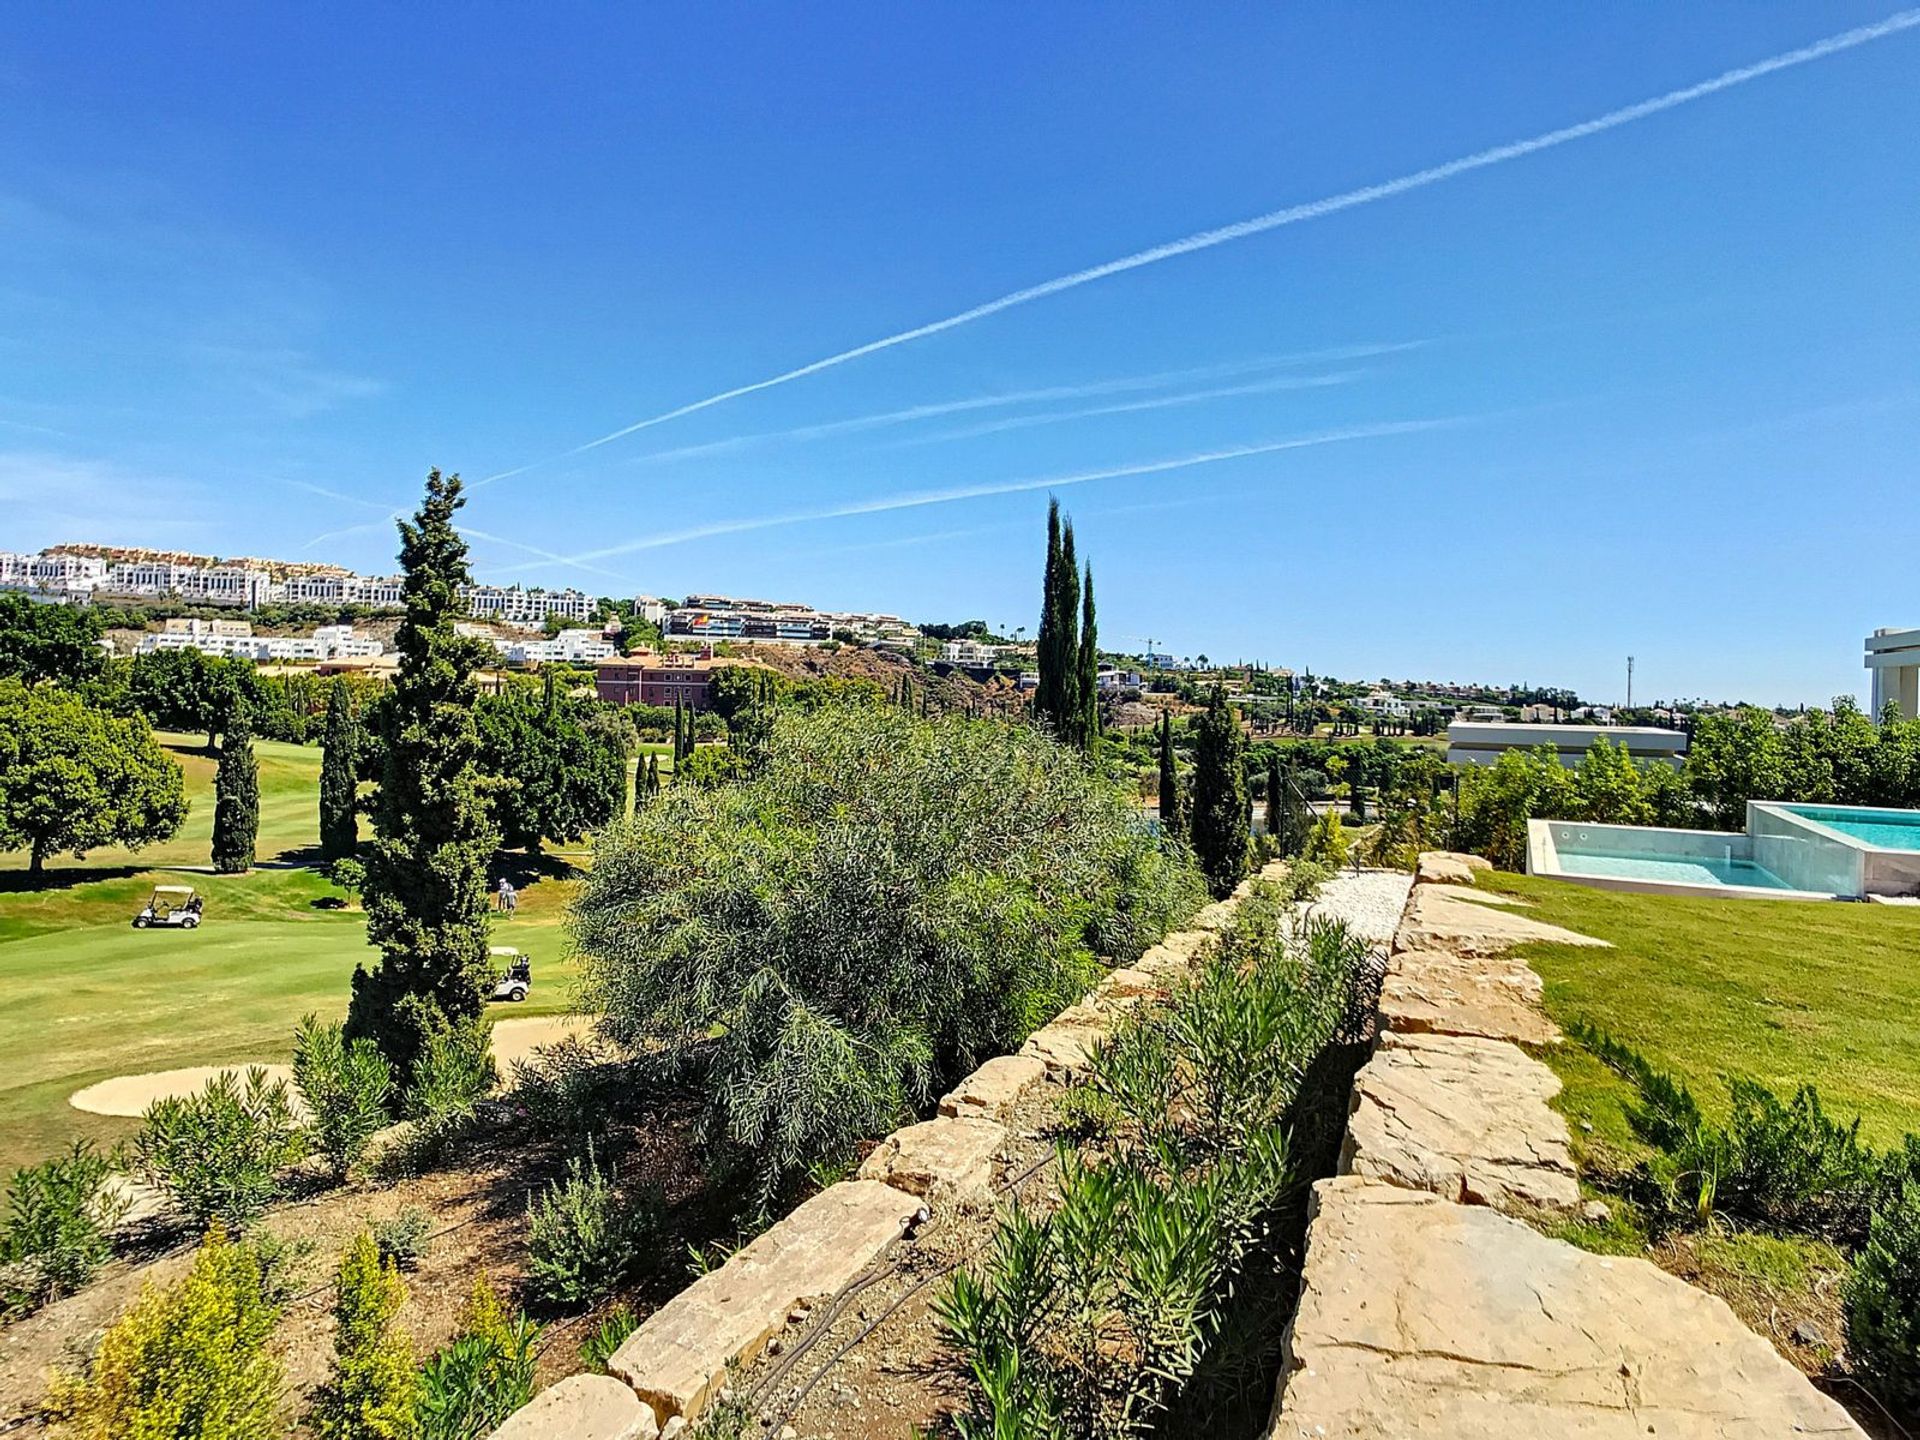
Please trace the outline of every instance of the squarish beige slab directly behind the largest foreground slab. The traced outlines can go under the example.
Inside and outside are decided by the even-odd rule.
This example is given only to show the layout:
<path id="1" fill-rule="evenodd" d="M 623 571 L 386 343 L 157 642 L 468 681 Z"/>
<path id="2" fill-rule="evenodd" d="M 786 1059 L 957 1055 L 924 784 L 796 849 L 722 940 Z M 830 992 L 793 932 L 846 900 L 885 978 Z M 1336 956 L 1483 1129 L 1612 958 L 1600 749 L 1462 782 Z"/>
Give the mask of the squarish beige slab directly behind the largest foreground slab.
<path id="1" fill-rule="evenodd" d="M 1519 1046 L 1469 1035 L 1382 1035 L 1354 1077 L 1340 1169 L 1498 1208 L 1574 1210 L 1559 1077 Z"/>

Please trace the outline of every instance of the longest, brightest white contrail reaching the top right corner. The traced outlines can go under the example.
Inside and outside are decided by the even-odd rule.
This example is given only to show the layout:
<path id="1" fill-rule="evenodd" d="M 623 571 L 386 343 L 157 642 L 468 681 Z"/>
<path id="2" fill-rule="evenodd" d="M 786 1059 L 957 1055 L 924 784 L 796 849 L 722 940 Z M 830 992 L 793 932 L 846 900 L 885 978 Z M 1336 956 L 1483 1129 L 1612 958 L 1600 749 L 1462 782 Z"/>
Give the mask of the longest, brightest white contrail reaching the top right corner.
<path id="1" fill-rule="evenodd" d="M 1212 250 L 1213 246 L 1223 246 L 1231 240 L 1246 240 L 1254 234 L 1265 234 L 1267 230 L 1279 230 L 1286 225 L 1300 225 L 1302 221 L 1317 221 L 1325 215 L 1336 215 L 1342 209 L 1354 209 L 1356 205 L 1371 205 L 1375 200 L 1390 200 L 1394 196 L 1404 196 L 1409 190 L 1421 190 L 1428 184 L 1440 184 L 1442 180 L 1452 180 L 1459 175 L 1469 175 L 1473 171 L 1488 169 L 1490 165 L 1503 165 L 1509 159 L 1521 159 L 1524 156 L 1534 156 L 1542 150 L 1553 150 L 1555 146 L 1569 144 L 1572 140 L 1584 140 L 1592 134 L 1601 134 L 1605 131 L 1619 129 L 1620 125 L 1632 125 L 1634 121 L 1647 119 L 1649 115 L 1659 115 L 1668 109 L 1678 109 L 1695 100 L 1705 100 L 1707 96 L 1720 94 L 1722 90 L 1732 90 L 1747 81 L 1757 81 L 1782 69 L 1791 69 L 1795 65 L 1807 65 L 1814 60 L 1826 60 L 1843 50 L 1853 50 L 1874 40 L 1884 40 L 1889 35 L 1908 31 L 1920 25 L 1920 10 L 1903 10 L 1887 19 L 1876 21 L 1872 25 L 1860 25 L 1839 35 L 1830 35 L 1824 40 L 1814 40 L 1812 44 L 1801 46 L 1799 50 L 1788 50 L 1786 54 L 1772 56 L 1770 60 L 1761 60 L 1751 65 L 1741 65 L 1738 69 L 1722 71 L 1711 81 L 1701 81 L 1699 84 L 1688 84 L 1680 90 L 1668 90 L 1653 100 L 1642 100 L 1632 106 L 1622 106 L 1620 109 L 1609 109 L 1605 115 L 1596 115 L 1590 121 L 1580 121 L 1578 125 L 1567 125 L 1557 131 L 1548 131 L 1546 134 L 1536 134 L 1528 140 L 1513 140 L 1503 146 L 1494 146 L 1492 150 L 1478 150 L 1471 156 L 1461 156 L 1459 159 L 1450 159 L 1442 165 L 1430 165 L 1423 171 L 1413 171 L 1411 175 L 1402 175 L 1394 180 L 1382 180 L 1380 184 L 1367 184 L 1359 190 L 1346 190 L 1344 194 L 1327 196 L 1325 200 L 1309 200 L 1302 205 L 1288 205 L 1286 209 L 1275 209 L 1265 215 L 1256 215 L 1248 221 L 1238 221 L 1235 225 L 1221 225 L 1213 230 L 1200 230 L 1185 240 L 1171 240 L 1164 246 L 1154 246 L 1152 250 L 1139 250 L 1131 255 L 1121 255 L 1119 259 L 1110 259 L 1104 265 L 1092 265 L 1085 271 L 1073 271 L 1071 275 L 1062 275 L 1054 280 L 1043 280 L 1031 284 L 1025 290 L 1014 290 L 1000 296 L 998 300 L 989 300 L 983 305 L 973 305 L 958 315 L 948 315 L 943 321 L 931 321 L 929 324 L 914 326 L 912 330 L 900 330 L 899 334 L 885 336 L 881 340 L 870 340 L 864 346 L 854 346 L 852 349 L 843 349 L 835 355 L 816 359 L 808 365 L 801 365 L 791 371 L 781 371 L 780 374 L 768 376 L 766 380 L 755 380 L 751 384 L 733 386 L 732 390 L 722 390 L 720 394 L 707 396 L 705 399 L 695 399 L 687 405 L 680 405 L 659 415 L 649 415 L 645 420 L 636 420 L 634 424 L 612 430 L 599 440 L 589 440 L 584 445 L 576 445 L 563 455 L 553 459 L 566 459 L 568 455 L 580 455 L 589 449 L 612 444 L 624 436 L 636 434 L 637 430 L 649 430 L 657 424 L 666 424 L 668 420 L 678 420 L 684 415 L 693 415 L 695 411 L 712 409 L 714 405 L 724 405 L 730 399 L 739 399 L 741 396 L 753 396 L 760 390 L 772 390 L 774 386 L 783 386 L 793 380 L 801 380 L 808 374 L 818 374 L 820 371 L 829 371 L 835 365 L 845 365 L 856 361 L 864 355 L 874 355 L 881 349 L 893 349 L 895 346 L 906 346 L 914 340 L 925 340 L 927 336 L 941 334 L 945 330 L 956 330 L 962 324 L 972 324 L 973 321 L 983 321 L 989 315 L 998 315 L 1004 309 L 1014 309 L 1016 305 L 1027 305 L 1035 300 L 1044 300 L 1046 296 L 1058 296 L 1062 290 L 1075 290 L 1083 284 L 1092 284 L 1094 280 L 1106 280 L 1114 275 L 1125 275 L 1127 271 L 1137 271 L 1146 265 L 1158 265 L 1164 259 L 1177 259 L 1179 255 L 1190 255 L 1196 250 Z M 499 474 L 486 476 L 488 480 L 503 480 L 511 474 L 522 474 L 534 465 L 545 461 L 532 461 L 515 470 L 501 470 Z"/>

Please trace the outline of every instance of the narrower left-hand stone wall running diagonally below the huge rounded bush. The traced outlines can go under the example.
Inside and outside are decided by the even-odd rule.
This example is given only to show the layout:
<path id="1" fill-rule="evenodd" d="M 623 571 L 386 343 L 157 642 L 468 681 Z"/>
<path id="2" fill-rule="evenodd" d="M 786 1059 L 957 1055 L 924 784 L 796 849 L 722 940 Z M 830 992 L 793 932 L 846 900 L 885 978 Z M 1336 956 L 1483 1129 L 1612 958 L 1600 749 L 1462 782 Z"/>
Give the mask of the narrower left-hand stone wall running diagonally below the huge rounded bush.
<path id="1" fill-rule="evenodd" d="M 998 1123 L 1006 1108 L 1043 1079 L 1069 1079 L 1085 1068 L 1114 1020 L 1164 993 L 1250 889 L 1252 881 L 1202 908 L 1190 929 L 1104 975 L 1020 1054 L 989 1060 L 960 1081 L 935 1119 L 881 1140 L 856 1179 L 822 1190 L 666 1302 L 614 1352 L 614 1379 L 561 1380 L 492 1440 L 651 1440 L 685 1428 L 718 1396 L 728 1369 L 758 1356 L 795 1311 L 852 1283 L 931 1206 L 977 1200 L 1006 1139 Z"/>

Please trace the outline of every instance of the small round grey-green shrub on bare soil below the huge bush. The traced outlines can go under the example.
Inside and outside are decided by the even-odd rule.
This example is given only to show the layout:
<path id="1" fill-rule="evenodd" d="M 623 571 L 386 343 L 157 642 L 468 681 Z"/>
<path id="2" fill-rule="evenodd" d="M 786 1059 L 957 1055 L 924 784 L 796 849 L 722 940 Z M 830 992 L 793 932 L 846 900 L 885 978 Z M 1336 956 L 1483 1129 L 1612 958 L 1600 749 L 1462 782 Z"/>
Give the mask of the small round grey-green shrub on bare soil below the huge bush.
<path id="1" fill-rule="evenodd" d="M 660 1198 L 624 1200 L 589 1148 L 526 1208 L 526 1286 L 549 1306 L 591 1306 L 639 1265 L 660 1225 Z"/>

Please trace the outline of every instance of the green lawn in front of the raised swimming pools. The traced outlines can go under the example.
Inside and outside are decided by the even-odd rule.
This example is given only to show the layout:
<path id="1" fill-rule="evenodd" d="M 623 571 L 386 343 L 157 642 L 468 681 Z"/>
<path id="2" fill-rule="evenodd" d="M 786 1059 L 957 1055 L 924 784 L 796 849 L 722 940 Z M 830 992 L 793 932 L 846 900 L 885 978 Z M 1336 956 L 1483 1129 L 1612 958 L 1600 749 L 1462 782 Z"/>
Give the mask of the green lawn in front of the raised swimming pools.
<path id="1" fill-rule="evenodd" d="M 1728 1073 L 1862 1117 L 1878 1144 L 1920 1131 L 1920 908 L 1834 900 L 1624 895 L 1534 876 L 1482 876 L 1528 916 L 1613 941 L 1524 947 L 1563 1025 L 1584 1020 L 1684 1077 L 1709 1106 Z M 1548 1056 L 1561 1108 L 1624 1140 L 1624 1087 L 1578 1046 Z"/>

